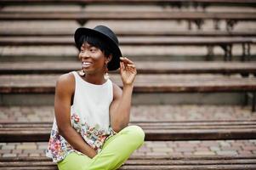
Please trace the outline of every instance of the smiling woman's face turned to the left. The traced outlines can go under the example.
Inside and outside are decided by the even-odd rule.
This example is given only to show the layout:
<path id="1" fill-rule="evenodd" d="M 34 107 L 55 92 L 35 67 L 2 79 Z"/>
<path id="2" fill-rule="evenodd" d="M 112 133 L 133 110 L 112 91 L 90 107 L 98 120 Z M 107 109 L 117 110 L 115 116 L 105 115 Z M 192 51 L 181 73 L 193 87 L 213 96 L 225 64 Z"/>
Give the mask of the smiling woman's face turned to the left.
<path id="1" fill-rule="evenodd" d="M 105 54 L 100 50 L 100 48 L 96 48 L 90 44 L 83 43 L 80 48 L 80 53 L 78 58 L 82 62 L 82 70 L 87 73 L 94 73 L 102 71 L 105 72 L 105 62 L 106 57 Z"/>

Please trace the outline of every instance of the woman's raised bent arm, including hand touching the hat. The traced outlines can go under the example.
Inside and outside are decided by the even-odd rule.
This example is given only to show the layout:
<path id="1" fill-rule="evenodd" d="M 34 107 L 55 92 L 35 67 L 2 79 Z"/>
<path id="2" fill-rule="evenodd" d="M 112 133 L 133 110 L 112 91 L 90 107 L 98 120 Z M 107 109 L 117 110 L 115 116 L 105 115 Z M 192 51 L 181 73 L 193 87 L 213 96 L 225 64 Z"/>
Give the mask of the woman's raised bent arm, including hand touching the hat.
<path id="1" fill-rule="evenodd" d="M 115 132 L 119 132 L 122 128 L 127 127 L 130 119 L 134 79 L 137 74 L 134 63 L 127 58 L 121 58 L 120 73 L 123 89 L 119 88 L 116 84 L 113 85 L 114 99 L 110 108 L 111 127 Z"/>

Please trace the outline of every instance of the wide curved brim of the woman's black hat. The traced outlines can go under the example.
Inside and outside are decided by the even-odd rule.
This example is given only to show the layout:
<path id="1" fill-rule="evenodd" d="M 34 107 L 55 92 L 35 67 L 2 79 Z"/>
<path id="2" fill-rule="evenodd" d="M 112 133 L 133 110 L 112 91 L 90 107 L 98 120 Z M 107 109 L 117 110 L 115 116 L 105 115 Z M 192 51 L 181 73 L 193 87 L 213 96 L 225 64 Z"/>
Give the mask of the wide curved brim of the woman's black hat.
<path id="1" fill-rule="evenodd" d="M 104 33 L 101 33 L 100 31 L 95 31 L 90 28 L 77 28 L 77 31 L 75 31 L 74 38 L 76 42 L 76 47 L 78 50 L 80 50 L 81 47 L 78 47 L 78 42 L 79 38 L 82 37 L 83 35 L 85 36 L 97 36 L 103 38 L 108 44 L 110 45 L 111 48 L 111 54 L 112 54 L 112 59 L 108 63 L 108 70 L 109 71 L 116 71 L 120 67 L 120 57 L 122 57 L 122 53 L 120 48 L 118 47 L 118 44 L 114 42 L 114 40 L 111 39 L 111 37 L 106 36 Z"/>

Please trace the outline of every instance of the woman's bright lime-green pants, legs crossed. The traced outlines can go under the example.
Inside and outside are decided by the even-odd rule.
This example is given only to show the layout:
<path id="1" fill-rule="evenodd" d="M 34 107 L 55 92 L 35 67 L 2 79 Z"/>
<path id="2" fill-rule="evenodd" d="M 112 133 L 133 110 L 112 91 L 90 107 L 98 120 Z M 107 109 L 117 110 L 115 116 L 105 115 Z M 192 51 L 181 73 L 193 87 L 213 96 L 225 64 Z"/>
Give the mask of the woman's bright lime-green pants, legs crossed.
<path id="1" fill-rule="evenodd" d="M 144 143 L 144 138 L 145 133 L 140 127 L 125 127 L 107 139 L 103 149 L 93 159 L 72 152 L 58 162 L 58 167 L 60 170 L 117 169 Z"/>

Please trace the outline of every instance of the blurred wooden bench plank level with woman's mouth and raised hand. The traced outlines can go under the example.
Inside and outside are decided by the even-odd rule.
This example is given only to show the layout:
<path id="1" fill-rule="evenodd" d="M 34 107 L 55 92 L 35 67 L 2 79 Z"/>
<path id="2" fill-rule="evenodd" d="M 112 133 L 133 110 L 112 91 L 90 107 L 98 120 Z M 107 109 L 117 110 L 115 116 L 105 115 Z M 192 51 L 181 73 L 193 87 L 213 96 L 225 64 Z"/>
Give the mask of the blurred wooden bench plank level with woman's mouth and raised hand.
<path id="1" fill-rule="evenodd" d="M 64 74 L 81 69 L 77 61 L 2 62 L 0 74 Z M 256 73 L 256 62 L 176 62 L 176 61 L 136 61 L 140 74 L 193 74 L 193 73 Z M 119 71 L 114 71 L 117 73 Z"/>

